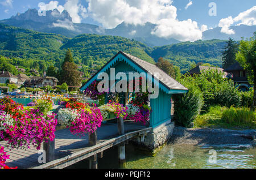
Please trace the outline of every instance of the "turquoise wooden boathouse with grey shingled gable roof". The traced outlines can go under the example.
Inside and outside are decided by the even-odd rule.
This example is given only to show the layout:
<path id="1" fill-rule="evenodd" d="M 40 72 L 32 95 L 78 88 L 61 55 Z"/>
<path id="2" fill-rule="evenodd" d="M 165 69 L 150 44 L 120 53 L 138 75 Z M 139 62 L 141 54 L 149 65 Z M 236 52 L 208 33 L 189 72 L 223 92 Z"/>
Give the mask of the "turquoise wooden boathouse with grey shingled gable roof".
<path id="1" fill-rule="evenodd" d="M 171 78 L 164 71 L 160 70 L 155 65 L 149 62 L 143 61 L 133 55 L 118 52 L 108 63 L 106 63 L 96 74 L 94 74 L 80 89 L 84 91 L 94 80 L 98 80 L 97 77 L 101 72 L 106 72 L 110 75 L 110 68 L 115 68 L 115 75 L 118 72 L 138 72 L 141 74 L 150 74 L 152 76 L 152 82 L 159 83 L 159 95 L 157 98 L 150 99 L 150 127 L 157 127 L 166 122 L 171 122 L 171 96 L 177 93 L 186 93 L 188 91 L 182 84 Z M 154 74 L 159 76 L 156 78 Z M 119 79 L 117 79 L 119 80 Z"/>

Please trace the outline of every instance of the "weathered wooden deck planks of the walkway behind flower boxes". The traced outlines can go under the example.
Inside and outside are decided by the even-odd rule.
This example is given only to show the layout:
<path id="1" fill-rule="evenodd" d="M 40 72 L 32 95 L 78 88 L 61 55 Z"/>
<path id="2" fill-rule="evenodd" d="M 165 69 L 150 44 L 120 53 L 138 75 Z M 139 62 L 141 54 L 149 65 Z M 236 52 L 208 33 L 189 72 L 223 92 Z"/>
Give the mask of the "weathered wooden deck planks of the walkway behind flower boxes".
<path id="1" fill-rule="evenodd" d="M 143 130 L 144 128 L 147 127 L 128 123 L 125 124 L 125 133 L 129 134 L 128 132 Z M 113 138 L 119 136 L 117 124 L 102 124 L 102 126 L 97 129 L 97 134 L 98 144 L 108 144 L 109 140 L 113 140 Z M 67 156 L 72 157 L 73 155 L 76 155 L 76 153 L 80 153 L 81 151 L 91 151 L 91 149 L 94 149 L 95 145 L 89 146 L 88 143 L 88 135 L 79 137 L 76 135 L 72 135 L 68 129 L 57 130 L 55 132 L 55 160 L 65 158 Z M 0 144 L 7 145 L 7 142 L 0 142 Z M 104 148 L 109 148 L 112 145 L 113 143 L 110 143 Z M 41 145 L 41 149 L 43 149 L 43 145 Z M 43 166 L 38 162 L 38 157 L 40 156 L 40 154 L 38 154 L 39 151 L 35 147 L 31 147 L 30 149 L 12 149 L 11 151 L 9 149 L 6 149 L 6 152 L 8 155 L 10 155 L 10 159 L 6 161 L 6 165 L 10 167 L 18 166 L 18 168 L 32 168 L 37 166 Z M 89 155 L 90 154 L 86 154 L 84 157 L 89 157 Z M 72 162 L 69 162 L 69 164 Z M 62 168 L 62 166 L 60 166 L 60 168 Z"/>

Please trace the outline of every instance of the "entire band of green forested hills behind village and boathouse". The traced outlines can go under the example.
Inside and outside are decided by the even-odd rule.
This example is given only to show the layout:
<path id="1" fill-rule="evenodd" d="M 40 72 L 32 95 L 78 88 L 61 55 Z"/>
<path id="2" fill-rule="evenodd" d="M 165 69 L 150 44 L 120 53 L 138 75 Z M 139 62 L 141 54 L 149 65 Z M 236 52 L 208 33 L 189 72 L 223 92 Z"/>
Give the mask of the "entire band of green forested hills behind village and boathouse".
<path id="1" fill-rule="evenodd" d="M 0 55 L 5 57 L 1 64 L 35 68 L 41 73 L 52 65 L 60 68 L 67 49 L 72 50 L 74 61 L 85 76 L 89 76 L 88 70 L 100 69 L 120 50 L 151 63 L 163 57 L 180 67 L 181 72 L 197 62 L 221 67 L 225 43 L 225 40 L 188 41 L 152 49 L 142 42 L 118 36 L 83 34 L 68 38 L 0 24 Z"/>

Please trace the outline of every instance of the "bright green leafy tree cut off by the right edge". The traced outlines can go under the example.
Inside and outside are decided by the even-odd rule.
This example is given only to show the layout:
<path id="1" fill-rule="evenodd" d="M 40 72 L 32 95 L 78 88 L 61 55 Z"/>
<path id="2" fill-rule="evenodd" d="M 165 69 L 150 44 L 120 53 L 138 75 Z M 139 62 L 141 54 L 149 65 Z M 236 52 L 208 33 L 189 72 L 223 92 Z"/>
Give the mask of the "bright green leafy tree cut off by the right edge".
<path id="1" fill-rule="evenodd" d="M 250 40 L 240 41 L 239 52 L 236 54 L 236 60 L 245 69 L 248 75 L 249 83 L 253 85 L 254 95 L 251 110 L 255 110 L 256 98 L 256 32 Z"/>

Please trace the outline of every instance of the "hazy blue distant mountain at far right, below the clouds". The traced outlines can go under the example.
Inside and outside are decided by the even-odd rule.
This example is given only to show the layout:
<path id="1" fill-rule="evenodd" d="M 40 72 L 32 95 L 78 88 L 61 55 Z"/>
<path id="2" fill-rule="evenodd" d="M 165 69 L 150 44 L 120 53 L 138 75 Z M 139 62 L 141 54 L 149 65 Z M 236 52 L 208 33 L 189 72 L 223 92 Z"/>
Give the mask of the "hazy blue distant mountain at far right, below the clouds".
<path id="1" fill-rule="evenodd" d="M 230 29 L 234 30 L 234 35 L 227 35 L 226 33 L 221 32 L 220 27 L 209 29 L 203 32 L 203 40 L 228 40 L 229 37 L 233 38 L 236 41 L 240 41 L 241 37 L 250 38 L 253 37 L 253 32 L 256 31 L 256 25 L 236 25 L 231 26 Z"/>

